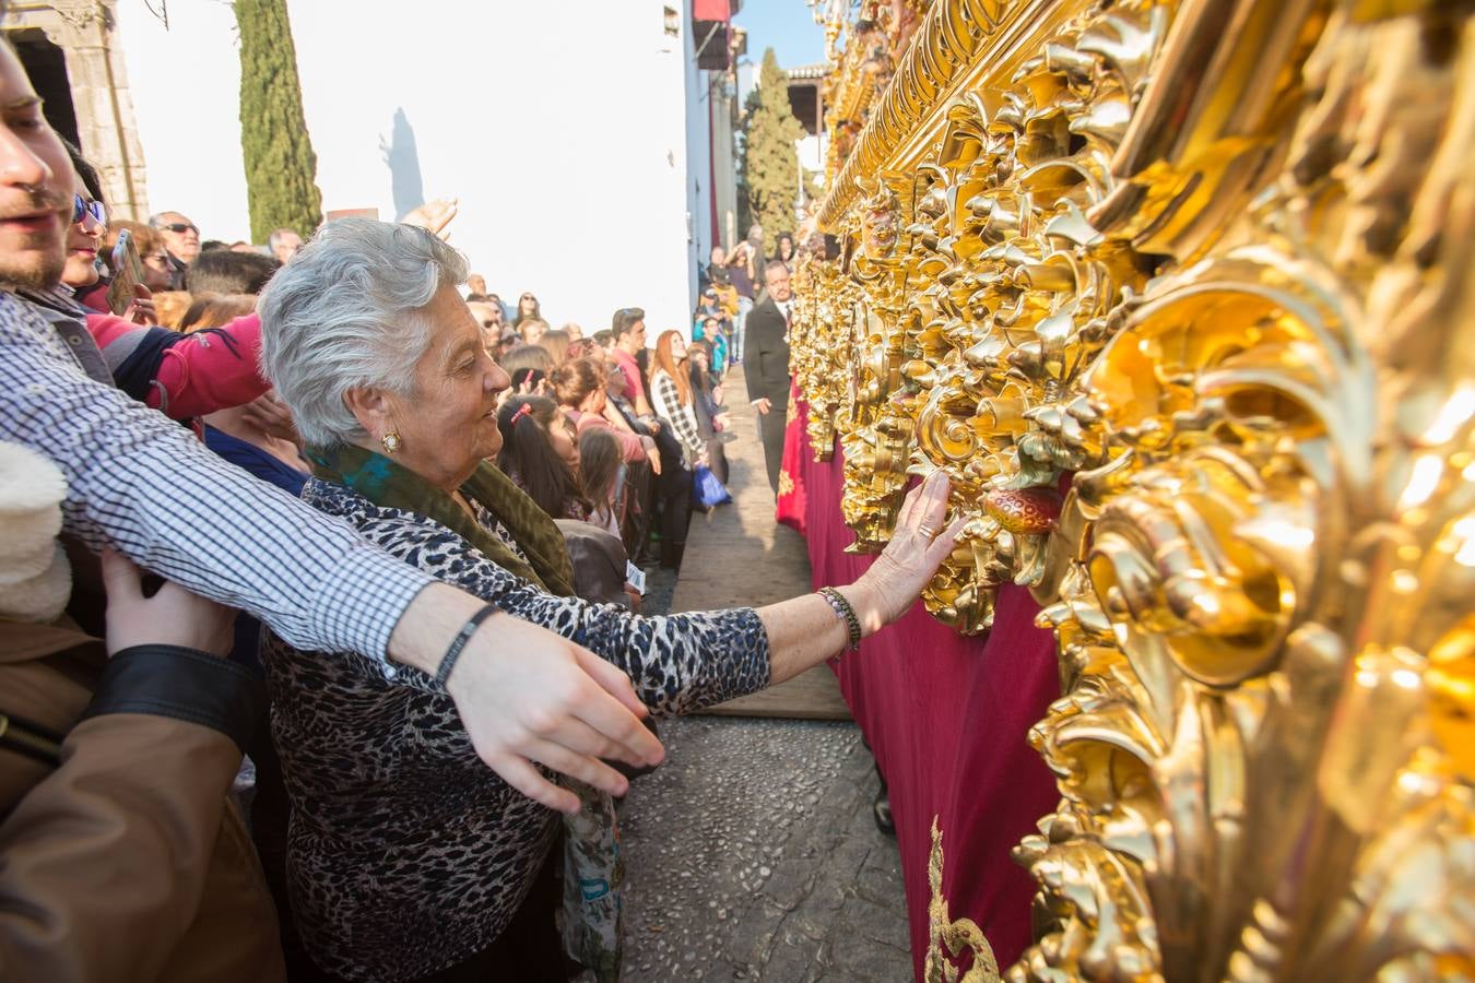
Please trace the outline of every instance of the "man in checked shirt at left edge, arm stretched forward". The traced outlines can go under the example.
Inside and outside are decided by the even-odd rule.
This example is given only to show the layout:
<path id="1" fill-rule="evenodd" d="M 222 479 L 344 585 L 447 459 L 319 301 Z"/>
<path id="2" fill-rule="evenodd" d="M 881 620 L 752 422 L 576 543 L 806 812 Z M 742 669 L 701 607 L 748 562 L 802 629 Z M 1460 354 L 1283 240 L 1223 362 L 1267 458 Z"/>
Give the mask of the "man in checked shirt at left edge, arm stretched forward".
<path id="1" fill-rule="evenodd" d="M 294 644 L 358 651 L 389 676 L 398 666 L 434 675 L 481 600 L 224 464 L 99 379 L 106 367 L 84 326 L 49 323 L 10 292 L 58 283 L 72 208 L 66 150 L 0 43 L 0 439 L 62 469 L 63 531 L 251 612 Z M 664 758 L 628 678 L 587 650 L 504 613 L 465 644 L 447 690 L 482 760 L 531 799 L 578 805 L 534 758 L 614 794 L 627 783 L 600 758 Z"/>

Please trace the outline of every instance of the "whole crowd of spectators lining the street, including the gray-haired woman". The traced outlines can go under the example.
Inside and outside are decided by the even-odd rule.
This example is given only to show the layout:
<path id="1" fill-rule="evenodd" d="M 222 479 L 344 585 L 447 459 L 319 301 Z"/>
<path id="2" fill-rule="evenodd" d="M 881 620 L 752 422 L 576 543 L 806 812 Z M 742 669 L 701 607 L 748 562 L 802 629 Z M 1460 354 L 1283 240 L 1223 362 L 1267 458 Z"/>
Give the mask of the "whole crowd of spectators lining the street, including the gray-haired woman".
<path id="1" fill-rule="evenodd" d="M 856 650 L 950 551 L 934 477 L 854 584 L 640 615 L 782 255 L 650 343 L 407 220 L 124 225 L 0 44 L 0 976 L 617 979 L 649 715 Z"/>

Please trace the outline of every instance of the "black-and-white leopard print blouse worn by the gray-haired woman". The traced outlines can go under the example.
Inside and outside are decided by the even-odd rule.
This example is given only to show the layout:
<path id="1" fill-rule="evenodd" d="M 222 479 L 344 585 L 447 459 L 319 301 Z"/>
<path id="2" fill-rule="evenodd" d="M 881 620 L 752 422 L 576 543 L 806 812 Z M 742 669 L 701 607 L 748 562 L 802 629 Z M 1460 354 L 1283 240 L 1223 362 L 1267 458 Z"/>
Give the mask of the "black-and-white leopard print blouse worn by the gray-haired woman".
<path id="1" fill-rule="evenodd" d="M 555 597 L 423 516 L 316 479 L 302 498 L 406 563 L 620 666 L 655 715 L 768 685 L 768 638 L 752 609 L 640 618 Z M 292 800 L 292 906 L 319 965 L 351 980 L 409 980 L 491 945 L 547 856 L 556 814 L 476 758 L 431 676 L 401 668 L 391 679 L 384 663 L 299 651 L 270 632 L 263 663 Z"/>

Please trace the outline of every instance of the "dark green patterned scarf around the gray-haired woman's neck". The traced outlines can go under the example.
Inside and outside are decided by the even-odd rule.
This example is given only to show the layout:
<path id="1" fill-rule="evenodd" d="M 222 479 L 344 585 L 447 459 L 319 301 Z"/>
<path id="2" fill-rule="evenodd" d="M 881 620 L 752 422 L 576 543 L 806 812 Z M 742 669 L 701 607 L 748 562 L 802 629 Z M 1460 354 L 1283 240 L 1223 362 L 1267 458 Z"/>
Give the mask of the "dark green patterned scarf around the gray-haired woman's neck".
<path id="1" fill-rule="evenodd" d="M 527 492 L 491 464 L 478 464 L 457 491 L 497 517 L 532 562 L 531 566 L 472 519 L 454 498 L 382 454 L 341 445 L 330 449 L 313 447 L 307 455 L 313 461 L 314 477 L 353 488 L 384 508 L 403 508 L 434 519 L 502 569 L 550 594 L 574 595 L 574 569 L 563 534 Z"/>

